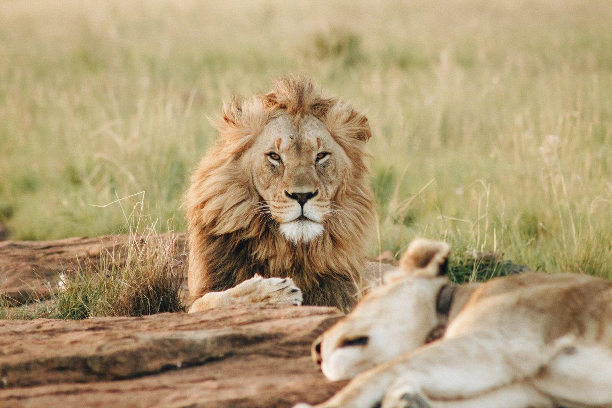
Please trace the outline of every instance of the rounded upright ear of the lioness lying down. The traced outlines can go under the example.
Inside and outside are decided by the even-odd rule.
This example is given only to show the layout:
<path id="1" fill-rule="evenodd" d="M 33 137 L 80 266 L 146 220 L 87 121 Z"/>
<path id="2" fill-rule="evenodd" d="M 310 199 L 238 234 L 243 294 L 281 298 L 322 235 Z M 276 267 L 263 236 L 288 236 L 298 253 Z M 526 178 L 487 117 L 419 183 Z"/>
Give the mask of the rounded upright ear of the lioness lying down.
<path id="1" fill-rule="evenodd" d="M 446 275 L 449 254 L 450 245 L 446 242 L 416 239 L 401 256 L 400 269 L 411 275 L 427 278 Z"/>

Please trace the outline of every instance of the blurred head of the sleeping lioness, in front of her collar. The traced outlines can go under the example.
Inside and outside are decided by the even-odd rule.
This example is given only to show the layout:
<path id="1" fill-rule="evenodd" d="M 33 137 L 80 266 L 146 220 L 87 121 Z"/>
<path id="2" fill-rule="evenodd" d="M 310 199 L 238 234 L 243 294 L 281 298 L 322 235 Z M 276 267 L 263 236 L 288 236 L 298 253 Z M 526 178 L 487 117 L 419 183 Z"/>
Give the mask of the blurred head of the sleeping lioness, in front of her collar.
<path id="1" fill-rule="evenodd" d="M 436 299 L 448 283 L 449 251 L 444 242 L 412 242 L 400 269 L 316 339 L 313 359 L 328 379 L 354 377 L 430 341 L 441 323 Z"/>

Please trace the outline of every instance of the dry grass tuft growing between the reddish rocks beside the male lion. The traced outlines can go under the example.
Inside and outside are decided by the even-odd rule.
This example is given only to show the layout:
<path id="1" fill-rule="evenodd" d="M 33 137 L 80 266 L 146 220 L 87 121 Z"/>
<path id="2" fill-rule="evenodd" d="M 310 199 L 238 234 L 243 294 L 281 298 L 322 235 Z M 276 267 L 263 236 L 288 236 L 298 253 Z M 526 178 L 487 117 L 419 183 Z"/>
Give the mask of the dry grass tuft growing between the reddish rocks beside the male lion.
<path id="1" fill-rule="evenodd" d="M 141 228 L 143 220 L 132 212 L 125 245 L 103 250 L 95 260 L 76 259 L 57 281 L 48 282 L 50 299 L 10 307 L 0 297 L 0 319 L 78 320 L 185 311 L 185 264 L 177 236 L 158 234 L 152 223 Z"/>

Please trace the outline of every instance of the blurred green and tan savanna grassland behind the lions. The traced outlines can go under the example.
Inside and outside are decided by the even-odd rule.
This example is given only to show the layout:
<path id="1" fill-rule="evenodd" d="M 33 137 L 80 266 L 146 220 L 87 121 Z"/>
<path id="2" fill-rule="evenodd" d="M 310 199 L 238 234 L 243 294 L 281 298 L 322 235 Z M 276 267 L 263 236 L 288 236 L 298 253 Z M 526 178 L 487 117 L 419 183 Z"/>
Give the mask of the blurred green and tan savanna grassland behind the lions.
<path id="1" fill-rule="evenodd" d="M 367 111 L 378 237 L 612 278 L 612 2 L 0 2 L 0 224 L 179 203 L 231 94 L 303 72 Z M 99 207 L 105 206 L 105 207 Z"/>

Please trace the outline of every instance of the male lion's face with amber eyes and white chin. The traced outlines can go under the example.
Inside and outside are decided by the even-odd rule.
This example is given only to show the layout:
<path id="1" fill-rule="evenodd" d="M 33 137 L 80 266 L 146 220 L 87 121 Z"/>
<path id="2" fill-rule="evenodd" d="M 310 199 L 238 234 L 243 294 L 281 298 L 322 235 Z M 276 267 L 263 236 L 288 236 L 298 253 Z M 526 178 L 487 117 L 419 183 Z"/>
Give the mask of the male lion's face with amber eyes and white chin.
<path id="1" fill-rule="evenodd" d="M 309 242 L 324 231 L 333 197 L 350 161 L 323 122 L 306 115 L 282 114 L 263 128 L 243 157 L 265 211 L 294 243 Z M 267 209 L 265 208 L 267 207 Z"/>

